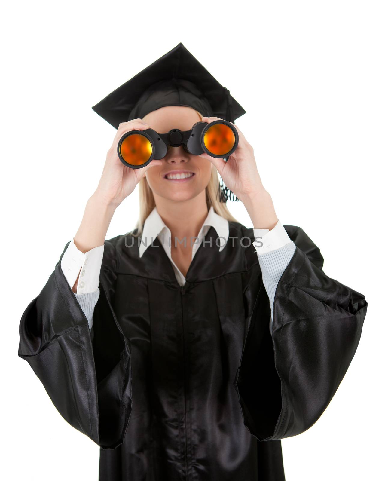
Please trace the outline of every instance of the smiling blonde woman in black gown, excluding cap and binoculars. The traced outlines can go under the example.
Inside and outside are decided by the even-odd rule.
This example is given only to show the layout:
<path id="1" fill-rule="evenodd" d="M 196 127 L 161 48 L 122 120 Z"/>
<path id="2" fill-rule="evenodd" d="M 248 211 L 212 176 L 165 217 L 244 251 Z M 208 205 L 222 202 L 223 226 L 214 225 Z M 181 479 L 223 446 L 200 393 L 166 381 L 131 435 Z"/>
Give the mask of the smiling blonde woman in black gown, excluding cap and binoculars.
<path id="1" fill-rule="evenodd" d="M 129 130 L 220 118 L 191 103 L 119 124 L 74 239 L 23 314 L 19 355 L 100 446 L 100 480 L 284 480 L 280 440 L 329 404 L 367 303 L 279 222 L 238 127 L 227 162 L 182 146 L 141 169 L 120 162 Z M 254 229 L 218 201 L 217 172 Z M 136 229 L 106 241 L 137 184 Z"/>

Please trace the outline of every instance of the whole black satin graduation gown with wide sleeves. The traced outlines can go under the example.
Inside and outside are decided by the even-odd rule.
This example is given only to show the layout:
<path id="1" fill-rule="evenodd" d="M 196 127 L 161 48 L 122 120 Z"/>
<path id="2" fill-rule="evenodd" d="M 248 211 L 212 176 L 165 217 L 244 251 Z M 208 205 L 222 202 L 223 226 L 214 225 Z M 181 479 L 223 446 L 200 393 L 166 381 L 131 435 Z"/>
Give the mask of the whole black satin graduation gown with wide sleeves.
<path id="1" fill-rule="evenodd" d="M 100 481 L 285 479 L 280 440 L 329 404 L 367 303 L 324 274 L 301 228 L 284 227 L 297 247 L 272 335 L 253 230 L 239 223 L 221 253 L 210 228 L 184 288 L 158 239 L 142 258 L 130 235 L 105 241 L 92 339 L 60 266 L 66 244 L 25 309 L 18 354 L 100 446 Z"/>

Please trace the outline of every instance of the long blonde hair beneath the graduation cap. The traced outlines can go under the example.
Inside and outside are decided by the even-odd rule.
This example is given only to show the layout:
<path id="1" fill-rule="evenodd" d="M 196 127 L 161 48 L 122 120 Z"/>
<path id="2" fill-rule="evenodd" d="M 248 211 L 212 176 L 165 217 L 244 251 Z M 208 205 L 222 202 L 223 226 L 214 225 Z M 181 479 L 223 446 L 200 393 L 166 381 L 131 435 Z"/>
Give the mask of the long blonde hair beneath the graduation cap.
<path id="1" fill-rule="evenodd" d="M 196 110 L 195 112 L 197 112 L 197 114 L 200 117 L 200 120 L 202 120 L 203 115 L 200 112 L 198 112 L 198 110 Z M 218 189 L 219 189 L 218 170 L 214 165 L 212 165 L 211 177 L 206 187 L 207 209 L 209 210 L 212 206 L 216 214 L 221 215 L 228 221 L 238 222 L 236 218 L 228 210 L 227 205 L 219 201 Z M 139 218 L 137 220 L 137 224 L 135 228 L 131 232 L 132 235 L 134 236 L 142 235 L 144 222 L 154 207 L 155 207 L 155 199 L 152 194 L 152 190 L 149 187 L 146 177 L 142 177 L 139 180 Z"/>

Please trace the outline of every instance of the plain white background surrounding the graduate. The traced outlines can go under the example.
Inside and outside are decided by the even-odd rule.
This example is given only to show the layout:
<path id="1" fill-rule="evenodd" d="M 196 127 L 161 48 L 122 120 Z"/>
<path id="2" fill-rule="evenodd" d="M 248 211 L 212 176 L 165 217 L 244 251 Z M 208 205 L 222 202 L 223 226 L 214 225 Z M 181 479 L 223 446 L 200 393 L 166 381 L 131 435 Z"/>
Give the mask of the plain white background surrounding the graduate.
<path id="1" fill-rule="evenodd" d="M 330 405 L 310 430 L 282 442 L 286 479 L 383 476 L 383 6 L 2 7 L 2 479 L 98 479 L 99 447 L 61 418 L 17 356 L 18 325 L 75 235 L 112 144 L 115 129 L 91 106 L 179 42 L 247 111 L 236 124 L 254 147 L 281 222 L 302 227 L 321 248 L 324 272 L 369 303 L 356 355 Z M 243 204 L 228 204 L 252 227 Z M 136 190 L 117 209 L 107 239 L 132 228 L 137 213 Z"/>

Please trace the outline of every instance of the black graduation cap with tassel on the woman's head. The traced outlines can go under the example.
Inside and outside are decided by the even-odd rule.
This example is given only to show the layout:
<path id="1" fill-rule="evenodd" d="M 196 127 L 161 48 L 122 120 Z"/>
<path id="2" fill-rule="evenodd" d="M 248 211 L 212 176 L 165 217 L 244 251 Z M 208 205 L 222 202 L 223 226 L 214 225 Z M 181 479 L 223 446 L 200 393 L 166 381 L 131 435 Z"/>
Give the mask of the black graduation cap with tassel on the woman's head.
<path id="1" fill-rule="evenodd" d="M 168 105 L 185 105 L 203 116 L 235 123 L 246 111 L 198 60 L 179 43 L 136 76 L 99 101 L 92 109 L 113 127 L 143 118 Z M 221 177 L 220 201 L 238 200 Z"/>

